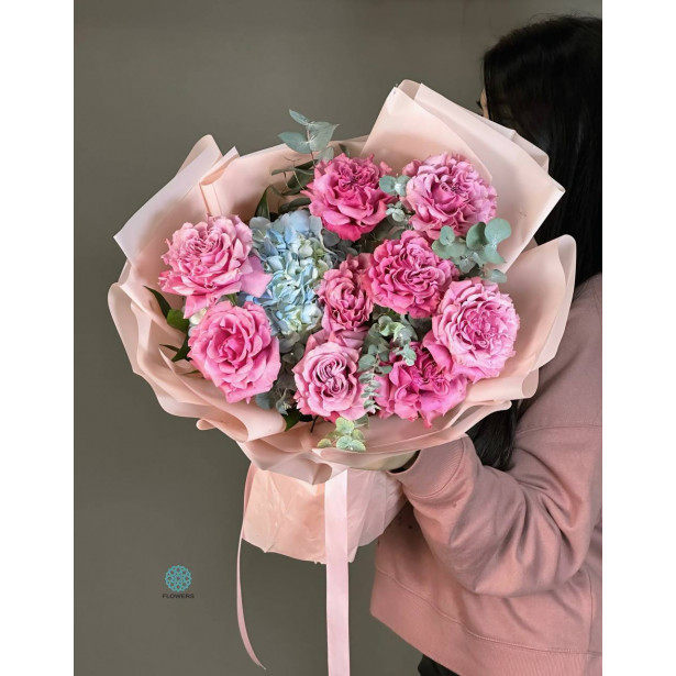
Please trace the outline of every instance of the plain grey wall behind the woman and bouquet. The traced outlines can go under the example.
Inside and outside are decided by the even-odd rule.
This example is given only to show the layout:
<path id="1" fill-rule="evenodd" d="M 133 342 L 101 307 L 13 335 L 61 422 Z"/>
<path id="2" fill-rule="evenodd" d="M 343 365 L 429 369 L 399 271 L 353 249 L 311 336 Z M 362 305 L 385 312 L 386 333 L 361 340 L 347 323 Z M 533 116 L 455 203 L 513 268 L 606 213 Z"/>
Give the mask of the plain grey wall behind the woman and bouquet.
<path id="1" fill-rule="evenodd" d="M 259 674 L 241 645 L 235 554 L 247 461 L 218 432 L 173 418 L 135 377 L 106 293 L 112 236 L 214 135 L 274 145 L 287 109 L 368 131 L 411 78 L 474 107 L 479 58 L 536 14 L 588 1 L 76 0 L 77 673 Z M 45 101 L 45 114 L 49 102 Z M 45 143 L 48 152 L 48 142 Z M 192 570 L 193 599 L 162 598 Z M 325 673 L 322 566 L 245 545 L 250 631 L 271 676 Z M 355 676 L 412 676 L 418 654 L 368 613 L 373 546 L 351 567 Z"/>

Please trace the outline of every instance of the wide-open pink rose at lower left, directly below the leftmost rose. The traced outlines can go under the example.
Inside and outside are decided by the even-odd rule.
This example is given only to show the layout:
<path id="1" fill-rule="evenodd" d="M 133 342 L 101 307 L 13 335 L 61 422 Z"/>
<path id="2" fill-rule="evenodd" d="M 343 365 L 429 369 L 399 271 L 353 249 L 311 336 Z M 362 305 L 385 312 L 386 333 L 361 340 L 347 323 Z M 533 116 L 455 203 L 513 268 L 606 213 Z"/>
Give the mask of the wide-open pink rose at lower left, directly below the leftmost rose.
<path id="1" fill-rule="evenodd" d="M 279 373 L 279 343 L 270 334 L 265 310 L 225 300 L 207 310 L 190 331 L 190 359 L 219 387 L 229 403 L 267 392 Z"/>

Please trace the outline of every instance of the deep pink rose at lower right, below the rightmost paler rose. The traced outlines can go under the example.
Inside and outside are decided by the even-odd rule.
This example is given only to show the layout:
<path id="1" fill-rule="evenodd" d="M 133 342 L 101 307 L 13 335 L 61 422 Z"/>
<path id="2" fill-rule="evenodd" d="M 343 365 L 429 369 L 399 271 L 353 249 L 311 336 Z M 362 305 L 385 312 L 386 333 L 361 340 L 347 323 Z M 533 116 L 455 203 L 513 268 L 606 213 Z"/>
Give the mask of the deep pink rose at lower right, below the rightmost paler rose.
<path id="1" fill-rule="evenodd" d="M 467 378 L 454 372 L 450 355 L 437 363 L 420 343 L 410 345 L 415 351 L 415 363 L 408 366 L 402 358 L 394 362 L 392 370 L 378 378 L 376 403 L 381 418 L 415 420 L 420 414 L 429 428 L 434 418 L 445 415 L 463 401 Z"/>

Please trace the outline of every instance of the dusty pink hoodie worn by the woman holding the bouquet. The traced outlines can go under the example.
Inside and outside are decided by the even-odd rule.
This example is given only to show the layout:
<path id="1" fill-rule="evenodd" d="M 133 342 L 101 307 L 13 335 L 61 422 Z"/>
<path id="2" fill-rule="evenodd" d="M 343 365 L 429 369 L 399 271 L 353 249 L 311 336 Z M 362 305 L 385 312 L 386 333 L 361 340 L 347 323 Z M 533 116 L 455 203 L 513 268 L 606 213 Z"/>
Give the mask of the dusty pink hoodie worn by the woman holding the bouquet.
<path id="1" fill-rule="evenodd" d="M 598 676 L 600 275 L 524 411 L 509 472 L 464 437 L 394 475 L 409 502 L 378 542 L 372 612 L 461 676 Z"/>

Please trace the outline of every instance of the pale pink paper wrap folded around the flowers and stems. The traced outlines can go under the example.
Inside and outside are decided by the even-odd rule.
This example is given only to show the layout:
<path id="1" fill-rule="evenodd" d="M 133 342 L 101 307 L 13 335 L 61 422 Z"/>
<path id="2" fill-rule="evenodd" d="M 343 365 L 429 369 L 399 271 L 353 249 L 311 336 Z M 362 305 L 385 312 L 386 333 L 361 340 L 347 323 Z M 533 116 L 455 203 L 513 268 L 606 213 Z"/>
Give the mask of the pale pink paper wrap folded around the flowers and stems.
<path id="1" fill-rule="evenodd" d="M 352 468 L 348 491 L 355 496 L 355 508 L 350 540 L 354 556 L 356 546 L 377 538 L 402 503 L 396 479 L 365 468 L 453 441 L 489 413 L 508 408 L 512 399 L 535 392 L 538 369 L 558 347 L 574 288 L 574 241 L 563 236 L 535 246 L 532 240 L 563 188 L 547 175 L 546 155 L 511 130 L 423 85 L 405 81 L 387 98 L 370 134 L 347 145 L 353 155 L 374 154 L 396 171 L 413 158 L 459 153 L 492 182 L 498 215 L 512 225 L 512 236 L 500 245 L 506 258 L 500 267 L 509 270 L 502 289 L 512 297 L 521 319 L 517 354 L 498 378 L 470 385 L 466 400 L 434 420 L 431 428 L 422 420 L 372 418 L 366 453 L 318 448 L 330 423 L 318 423 L 314 430 L 310 423 L 299 423 L 285 432 L 279 413 L 253 402 L 228 403 L 212 383 L 188 375 L 190 366 L 173 363 L 173 353 L 160 346 L 182 342 L 182 334 L 167 325 L 144 288 L 157 288 L 165 240 L 184 222 L 203 220 L 206 212 L 250 219 L 270 182 L 270 171 L 300 157 L 284 145 L 245 156 L 232 148 L 222 155 L 211 136 L 201 138 L 174 179 L 115 236 L 128 261 L 109 295 L 133 370 L 148 381 L 160 406 L 174 415 L 196 418 L 201 430 L 215 428 L 234 439 L 257 468 L 252 468 L 246 539 L 265 551 L 309 561 L 323 559 L 323 520 L 317 514 L 323 503 L 322 484 L 329 478 Z M 169 300 L 179 307 L 180 298 Z"/>

